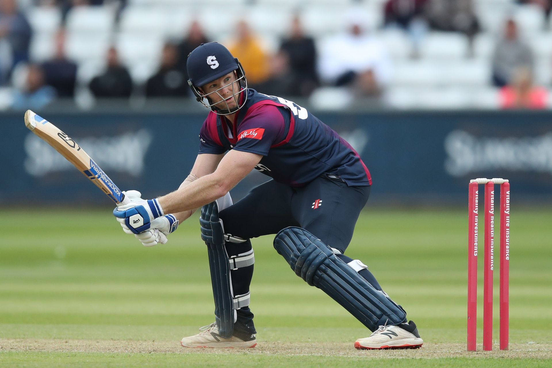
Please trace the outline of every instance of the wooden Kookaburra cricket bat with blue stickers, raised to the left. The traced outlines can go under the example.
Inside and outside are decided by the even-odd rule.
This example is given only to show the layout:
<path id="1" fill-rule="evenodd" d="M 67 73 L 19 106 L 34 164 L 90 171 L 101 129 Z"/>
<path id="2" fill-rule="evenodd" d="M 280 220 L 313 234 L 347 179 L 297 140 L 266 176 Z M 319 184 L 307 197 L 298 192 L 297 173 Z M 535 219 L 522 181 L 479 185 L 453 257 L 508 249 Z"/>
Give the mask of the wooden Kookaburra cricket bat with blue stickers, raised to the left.
<path id="1" fill-rule="evenodd" d="M 113 180 L 109 179 L 98 164 L 67 134 L 31 110 L 25 112 L 25 126 L 61 153 L 117 205 L 126 204 L 125 195 Z"/>

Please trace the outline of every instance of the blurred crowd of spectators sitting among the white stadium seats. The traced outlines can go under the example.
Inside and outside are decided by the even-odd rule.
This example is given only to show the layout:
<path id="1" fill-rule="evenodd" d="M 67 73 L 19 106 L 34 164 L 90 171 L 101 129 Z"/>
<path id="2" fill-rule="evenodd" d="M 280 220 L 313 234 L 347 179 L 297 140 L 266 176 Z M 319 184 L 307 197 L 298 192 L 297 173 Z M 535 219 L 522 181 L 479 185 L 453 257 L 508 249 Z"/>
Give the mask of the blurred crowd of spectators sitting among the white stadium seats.
<path id="1" fill-rule="evenodd" d="M 517 2 L 539 7 L 546 19 L 550 15 L 551 0 Z M 464 57 L 473 57 L 474 38 L 482 31 L 473 0 L 386 0 L 381 3 L 381 28 L 396 29 L 407 35 L 411 60 L 421 57 L 421 45 L 434 31 L 465 36 L 469 47 Z M 66 55 L 63 21 L 55 34 L 55 55 L 39 62 L 30 57 L 34 30 L 26 16 L 27 9 L 58 7 L 65 19 L 75 7 L 110 7 L 117 22 L 118 14 L 127 5 L 121 0 L 0 0 L 0 87 L 9 90 L 11 107 L 39 109 L 57 98 L 75 98 L 79 65 Z M 367 25 L 362 12 L 352 9 L 341 33 L 317 42 L 315 35 L 305 31 L 298 11 L 288 25 L 288 33 L 273 50 L 266 47 L 250 20 L 228 21 L 233 26 L 231 38 L 216 41 L 222 41 L 241 61 L 250 87 L 290 98 L 309 98 L 317 90 L 330 88 L 360 103 L 385 104 L 386 90 L 394 73 L 392 57 L 389 45 Z M 544 22 L 548 23 L 548 20 Z M 504 19 L 501 29 L 492 46 L 488 78 L 489 86 L 499 91 L 497 104 L 502 108 L 546 108 L 549 86 L 534 85 L 532 46 L 520 35 L 513 17 Z M 213 39 L 205 33 L 205 24 L 193 20 L 180 39 L 166 40 L 158 70 L 145 81 L 132 77 L 128 66 L 121 61 L 119 50 L 112 45 L 104 70 L 87 81 L 86 88 L 94 98 L 191 98 L 186 59 L 195 47 L 209 41 Z"/>

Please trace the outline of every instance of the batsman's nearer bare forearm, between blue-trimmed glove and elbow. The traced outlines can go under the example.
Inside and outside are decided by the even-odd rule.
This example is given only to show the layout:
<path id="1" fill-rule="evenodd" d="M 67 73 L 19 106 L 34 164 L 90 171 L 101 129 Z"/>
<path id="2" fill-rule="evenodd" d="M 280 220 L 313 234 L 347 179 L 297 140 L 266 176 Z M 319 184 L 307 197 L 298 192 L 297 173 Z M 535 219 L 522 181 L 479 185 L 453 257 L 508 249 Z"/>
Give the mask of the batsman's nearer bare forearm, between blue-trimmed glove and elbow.
<path id="1" fill-rule="evenodd" d="M 198 209 L 225 195 L 228 190 L 218 175 L 210 174 L 188 185 L 181 185 L 178 190 L 158 200 L 164 213 L 173 214 Z"/>

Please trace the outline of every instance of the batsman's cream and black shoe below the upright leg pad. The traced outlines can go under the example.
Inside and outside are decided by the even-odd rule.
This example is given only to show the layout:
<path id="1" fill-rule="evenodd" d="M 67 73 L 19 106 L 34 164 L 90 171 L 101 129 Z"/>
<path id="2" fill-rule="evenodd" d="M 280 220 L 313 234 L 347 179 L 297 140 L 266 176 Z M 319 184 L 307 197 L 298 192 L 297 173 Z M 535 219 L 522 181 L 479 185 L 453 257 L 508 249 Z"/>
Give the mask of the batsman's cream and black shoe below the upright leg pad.
<path id="1" fill-rule="evenodd" d="M 197 335 L 183 338 L 180 344 L 184 348 L 254 348 L 257 345 L 255 334 L 234 332 L 231 338 L 222 337 L 215 322 L 199 330 Z"/>

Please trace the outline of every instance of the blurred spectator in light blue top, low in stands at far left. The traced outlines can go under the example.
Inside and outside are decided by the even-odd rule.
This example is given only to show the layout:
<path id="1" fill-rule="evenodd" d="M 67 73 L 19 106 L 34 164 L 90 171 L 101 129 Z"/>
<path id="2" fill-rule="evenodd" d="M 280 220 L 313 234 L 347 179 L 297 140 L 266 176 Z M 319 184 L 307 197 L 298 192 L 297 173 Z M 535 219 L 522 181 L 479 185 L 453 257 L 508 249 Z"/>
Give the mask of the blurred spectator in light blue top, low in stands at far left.
<path id="1" fill-rule="evenodd" d="M 13 108 L 42 109 L 56 98 L 56 90 L 44 84 L 44 73 L 39 65 L 28 65 L 26 74 L 23 89 L 14 91 Z"/>

